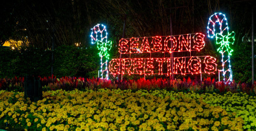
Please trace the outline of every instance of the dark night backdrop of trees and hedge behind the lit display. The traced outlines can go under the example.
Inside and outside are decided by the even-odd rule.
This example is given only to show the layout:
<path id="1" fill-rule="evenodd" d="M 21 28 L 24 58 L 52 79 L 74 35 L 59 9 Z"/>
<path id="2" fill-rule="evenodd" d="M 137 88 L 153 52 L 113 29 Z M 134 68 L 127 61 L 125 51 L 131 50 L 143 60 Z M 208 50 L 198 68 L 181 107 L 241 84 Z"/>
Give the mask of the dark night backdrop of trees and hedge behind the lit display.
<path id="1" fill-rule="evenodd" d="M 56 48 L 55 75 L 97 77 L 99 51 L 90 44 L 90 29 L 94 25 L 106 25 L 108 40 L 114 45 L 110 57 L 117 58 L 116 45 L 125 20 L 125 38 L 196 32 L 207 35 L 209 17 L 221 12 L 228 19 L 230 32 L 236 33 L 235 43 L 230 46 L 234 49 L 231 56 L 234 79 L 251 81 L 253 0 L 8 0 L 0 6 L 0 44 L 10 39 L 22 40 L 19 50 L 0 50 L 0 77 L 28 72 L 50 75 L 52 38 Z M 217 48 L 214 40 L 206 37 L 206 47 L 196 55 L 221 59 Z"/>

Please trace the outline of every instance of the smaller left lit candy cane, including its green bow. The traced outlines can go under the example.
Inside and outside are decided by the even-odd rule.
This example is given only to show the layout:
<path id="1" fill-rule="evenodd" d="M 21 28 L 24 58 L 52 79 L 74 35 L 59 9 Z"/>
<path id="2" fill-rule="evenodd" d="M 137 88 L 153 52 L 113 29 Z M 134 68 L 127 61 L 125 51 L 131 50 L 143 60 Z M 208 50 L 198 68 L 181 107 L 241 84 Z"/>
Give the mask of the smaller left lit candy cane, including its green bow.
<path id="1" fill-rule="evenodd" d="M 97 48 L 100 50 L 98 53 L 100 56 L 100 76 L 101 78 L 109 79 L 109 71 L 107 69 L 107 63 L 109 60 L 108 51 L 112 47 L 112 42 L 107 41 L 107 29 L 102 24 L 95 25 L 92 29 L 91 38 L 92 44 L 97 43 Z"/>

